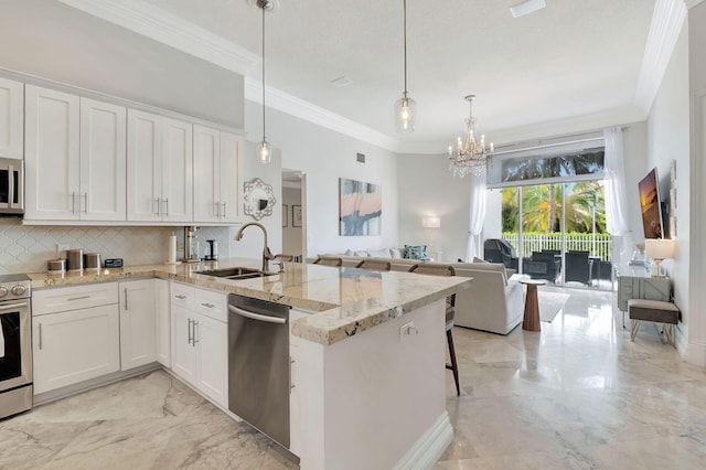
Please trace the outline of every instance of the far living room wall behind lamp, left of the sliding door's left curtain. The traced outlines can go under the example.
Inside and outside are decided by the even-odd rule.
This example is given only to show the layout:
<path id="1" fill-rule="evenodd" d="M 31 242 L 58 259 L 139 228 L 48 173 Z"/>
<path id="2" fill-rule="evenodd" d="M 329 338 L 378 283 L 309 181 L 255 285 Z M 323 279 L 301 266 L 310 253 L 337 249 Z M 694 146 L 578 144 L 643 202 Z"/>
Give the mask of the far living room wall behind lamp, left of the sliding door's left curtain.
<path id="1" fill-rule="evenodd" d="M 432 250 L 443 252 L 441 260 L 466 258 L 469 225 L 470 178 L 454 178 L 443 154 L 403 154 L 397 161 L 399 186 L 399 246 L 428 245 L 429 228 L 424 215 L 441 217 L 434 229 Z"/>

